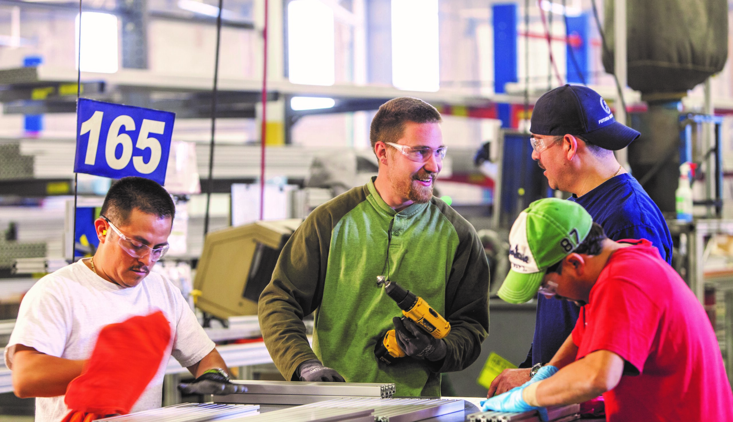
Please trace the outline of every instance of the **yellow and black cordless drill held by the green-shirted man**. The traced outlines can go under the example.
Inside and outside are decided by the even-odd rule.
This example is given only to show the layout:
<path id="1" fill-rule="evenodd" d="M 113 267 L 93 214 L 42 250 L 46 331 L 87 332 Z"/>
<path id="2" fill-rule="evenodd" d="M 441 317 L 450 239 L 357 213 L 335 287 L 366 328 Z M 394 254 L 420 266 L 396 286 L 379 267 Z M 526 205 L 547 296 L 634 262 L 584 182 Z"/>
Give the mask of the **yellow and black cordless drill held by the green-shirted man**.
<path id="1" fill-rule="evenodd" d="M 430 333 L 431 336 L 443 338 L 451 332 L 450 322 L 441 317 L 441 314 L 435 312 L 422 297 L 416 296 L 409 290 L 402 289 L 399 284 L 387 280 L 384 275 L 377 276 L 377 286 L 384 286 L 384 291 L 392 300 L 397 302 L 397 306 L 402 309 L 402 314 L 422 327 L 427 333 Z M 383 340 L 377 341 L 374 353 L 377 355 L 377 359 L 387 365 L 391 365 L 397 359 L 405 357 L 405 351 L 397 344 L 394 330 L 387 331 Z"/>

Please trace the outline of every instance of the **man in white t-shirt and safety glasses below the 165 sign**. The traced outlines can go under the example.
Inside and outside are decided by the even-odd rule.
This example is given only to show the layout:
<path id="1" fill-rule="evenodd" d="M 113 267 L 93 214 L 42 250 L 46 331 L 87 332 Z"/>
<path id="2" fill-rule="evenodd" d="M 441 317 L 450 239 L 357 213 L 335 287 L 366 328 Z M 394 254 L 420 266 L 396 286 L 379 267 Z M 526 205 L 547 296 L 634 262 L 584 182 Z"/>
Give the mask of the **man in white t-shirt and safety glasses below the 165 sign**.
<path id="1" fill-rule="evenodd" d="M 161 407 L 170 355 L 196 377 L 183 385 L 185 392 L 241 392 L 180 290 L 150 272 L 168 249 L 174 214 L 171 196 L 158 183 L 120 179 L 95 221 L 95 255 L 46 275 L 23 298 L 5 363 L 15 395 L 37 398 L 36 422 L 58 422 L 67 414 L 67 385 L 81 374 L 102 327 L 156 310 L 168 320 L 172 341 L 133 412 Z M 111 364 L 120 363 L 135 365 L 125 356 Z"/>

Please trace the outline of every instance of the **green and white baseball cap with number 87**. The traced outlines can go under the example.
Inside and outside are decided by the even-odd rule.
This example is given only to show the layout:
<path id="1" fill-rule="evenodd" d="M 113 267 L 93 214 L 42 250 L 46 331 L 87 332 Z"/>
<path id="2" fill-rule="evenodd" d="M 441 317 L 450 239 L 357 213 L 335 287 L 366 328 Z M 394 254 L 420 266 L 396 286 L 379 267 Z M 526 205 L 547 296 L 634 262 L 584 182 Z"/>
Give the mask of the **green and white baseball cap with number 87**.
<path id="1" fill-rule="evenodd" d="M 525 303 L 542 284 L 548 267 L 560 262 L 586 239 L 590 214 L 573 201 L 539 199 L 529 204 L 509 232 L 509 270 L 498 295 L 509 303 Z"/>

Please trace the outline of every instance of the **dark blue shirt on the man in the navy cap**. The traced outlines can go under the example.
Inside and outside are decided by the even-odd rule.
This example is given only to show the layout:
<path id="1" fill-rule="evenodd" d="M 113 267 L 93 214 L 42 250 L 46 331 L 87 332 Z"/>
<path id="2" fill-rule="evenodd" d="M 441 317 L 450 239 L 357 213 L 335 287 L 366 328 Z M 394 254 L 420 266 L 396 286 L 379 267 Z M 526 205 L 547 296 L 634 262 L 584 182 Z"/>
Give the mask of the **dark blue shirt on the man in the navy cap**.
<path id="1" fill-rule="evenodd" d="M 672 237 L 662 212 L 630 174 L 612 177 L 580 198 L 573 195 L 570 201 L 581 204 L 609 239 L 647 239 L 671 263 Z M 570 301 L 539 295 L 532 348 L 520 366 L 548 363 L 570 336 L 580 311 Z"/>

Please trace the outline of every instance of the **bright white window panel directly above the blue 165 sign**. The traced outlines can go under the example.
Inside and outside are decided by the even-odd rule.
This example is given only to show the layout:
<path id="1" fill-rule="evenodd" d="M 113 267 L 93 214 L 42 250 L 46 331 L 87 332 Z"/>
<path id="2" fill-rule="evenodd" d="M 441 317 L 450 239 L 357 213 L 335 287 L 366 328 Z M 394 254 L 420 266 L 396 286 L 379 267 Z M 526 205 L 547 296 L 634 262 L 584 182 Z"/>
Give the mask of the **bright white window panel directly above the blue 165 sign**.
<path id="1" fill-rule="evenodd" d="M 77 66 L 82 72 L 115 73 L 117 56 L 117 16 L 110 13 L 81 13 L 81 61 L 79 61 L 79 15 L 76 15 Z"/>

